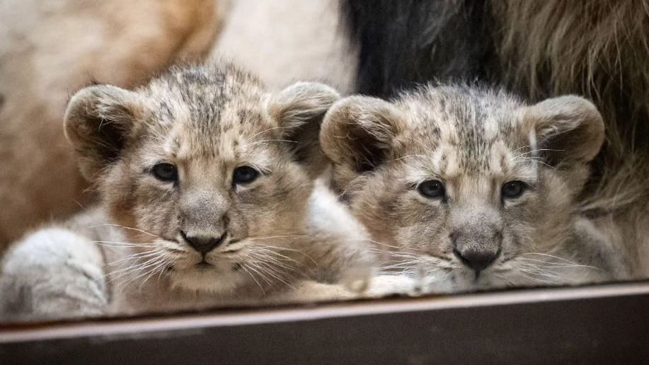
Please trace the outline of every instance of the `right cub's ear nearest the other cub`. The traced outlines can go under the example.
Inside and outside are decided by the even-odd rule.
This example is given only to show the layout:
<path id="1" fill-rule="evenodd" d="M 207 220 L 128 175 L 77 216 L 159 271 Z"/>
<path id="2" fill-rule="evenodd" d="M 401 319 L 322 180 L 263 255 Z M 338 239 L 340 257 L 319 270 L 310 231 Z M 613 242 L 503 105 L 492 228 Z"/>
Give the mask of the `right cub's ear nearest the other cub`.
<path id="1" fill-rule="evenodd" d="M 366 96 L 351 96 L 327 112 L 320 143 L 333 162 L 333 182 L 339 190 L 362 173 L 386 161 L 406 130 L 406 122 L 394 105 Z"/>

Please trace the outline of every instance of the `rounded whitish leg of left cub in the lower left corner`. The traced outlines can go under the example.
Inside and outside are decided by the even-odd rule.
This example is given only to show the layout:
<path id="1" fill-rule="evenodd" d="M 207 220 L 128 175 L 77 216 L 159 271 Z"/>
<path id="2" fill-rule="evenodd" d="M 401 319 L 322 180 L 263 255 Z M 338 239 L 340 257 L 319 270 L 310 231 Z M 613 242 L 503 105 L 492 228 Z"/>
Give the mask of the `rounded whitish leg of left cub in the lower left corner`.
<path id="1" fill-rule="evenodd" d="M 64 228 L 26 236 L 0 266 L 0 319 L 52 320 L 100 315 L 108 304 L 96 244 Z"/>

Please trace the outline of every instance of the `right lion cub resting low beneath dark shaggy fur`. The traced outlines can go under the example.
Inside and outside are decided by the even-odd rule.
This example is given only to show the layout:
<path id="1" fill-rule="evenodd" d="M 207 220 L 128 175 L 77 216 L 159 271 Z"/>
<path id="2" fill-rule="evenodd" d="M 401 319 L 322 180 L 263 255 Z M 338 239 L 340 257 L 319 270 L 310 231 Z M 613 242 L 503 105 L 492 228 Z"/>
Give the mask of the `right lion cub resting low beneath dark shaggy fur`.
<path id="1" fill-rule="evenodd" d="M 386 257 L 427 291 L 606 279 L 575 199 L 604 141 L 592 103 L 525 105 L 501 91 L 425 86 L 328 111 L 332 183 Z"/>

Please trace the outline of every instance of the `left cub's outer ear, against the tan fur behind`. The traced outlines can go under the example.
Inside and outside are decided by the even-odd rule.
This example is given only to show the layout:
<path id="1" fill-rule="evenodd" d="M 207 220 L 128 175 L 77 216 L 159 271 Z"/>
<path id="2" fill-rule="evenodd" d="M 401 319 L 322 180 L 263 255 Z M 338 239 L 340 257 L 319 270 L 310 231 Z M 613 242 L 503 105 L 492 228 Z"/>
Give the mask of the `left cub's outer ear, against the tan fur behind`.
<path id="1" fill-rule="evenodd" d="M 92 180 L 120 156 L 143 109 L 137 94 L 115 86 L 90 86 L 72 96 L 64 115 L 64 130 L 79 153 L 85 178 Z"/>

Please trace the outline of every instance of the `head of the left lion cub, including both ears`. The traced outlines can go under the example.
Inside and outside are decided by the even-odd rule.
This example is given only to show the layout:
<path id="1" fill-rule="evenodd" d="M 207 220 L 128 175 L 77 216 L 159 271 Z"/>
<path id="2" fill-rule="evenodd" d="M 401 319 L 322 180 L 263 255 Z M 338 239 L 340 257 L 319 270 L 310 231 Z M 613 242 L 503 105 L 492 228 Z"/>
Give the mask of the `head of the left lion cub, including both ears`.
<path id="1" fill-rule="evenodd" d="M 318 83 L 269 93 L 231 65 L 176 67 L 135 91 L 82 89 L 65 132 L 142 261 L 173 286 L 228 291 L 285 265 L 265 240 L 304 234 L 305 164 L 335 100 Z"/>

